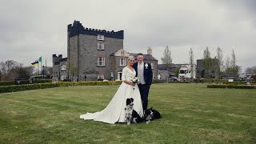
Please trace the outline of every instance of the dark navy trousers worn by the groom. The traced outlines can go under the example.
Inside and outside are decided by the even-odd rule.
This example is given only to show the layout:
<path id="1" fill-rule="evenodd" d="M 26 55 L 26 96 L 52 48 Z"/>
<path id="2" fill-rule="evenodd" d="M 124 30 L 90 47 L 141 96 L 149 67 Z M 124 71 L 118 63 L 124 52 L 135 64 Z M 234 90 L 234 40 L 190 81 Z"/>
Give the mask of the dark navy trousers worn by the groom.
<path id="1" fill-rule="evenodd" d="M 146 110 L 147 109 L 148 98 L 149 98 L 150 85 L 138 84 L 138 89 L 139 89 L 139 92 L 140 92 L 141 98 L 142 98 L 143 110 Z"/>

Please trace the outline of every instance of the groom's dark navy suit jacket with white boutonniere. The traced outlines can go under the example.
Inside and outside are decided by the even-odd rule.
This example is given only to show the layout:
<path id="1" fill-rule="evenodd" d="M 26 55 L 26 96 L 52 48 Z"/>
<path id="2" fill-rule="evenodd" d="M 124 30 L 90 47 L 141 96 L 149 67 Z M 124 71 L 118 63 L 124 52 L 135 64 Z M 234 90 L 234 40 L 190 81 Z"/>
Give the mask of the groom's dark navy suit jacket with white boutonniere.
<path id="1" fill-rule="evenodd" d="M 147 67 L 145 66 L 147 62 L 144 62 L 144 80 L 146 84 L 151 85 L 153 79 L 153 72 L 150 63 L 147 63 Z M 138 62 L 134 63 L 134 70 L 136 71 L 136 77 L 138 77 Z"/>

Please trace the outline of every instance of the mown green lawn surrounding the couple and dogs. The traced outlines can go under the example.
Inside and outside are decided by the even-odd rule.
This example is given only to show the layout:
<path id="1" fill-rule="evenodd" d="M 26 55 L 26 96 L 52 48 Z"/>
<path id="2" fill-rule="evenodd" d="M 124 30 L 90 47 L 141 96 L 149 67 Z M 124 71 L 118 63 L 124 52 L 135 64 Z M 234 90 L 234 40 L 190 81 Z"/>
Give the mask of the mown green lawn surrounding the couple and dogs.
<path id="1" fill-rule="evenodd" d="M 127 126 L 84 121 L 118 86 L 74 86 L 0 94 L 0 143 L 256 143 L 256 90 L 154 84 L 162 119 Z"/>

